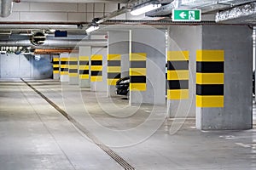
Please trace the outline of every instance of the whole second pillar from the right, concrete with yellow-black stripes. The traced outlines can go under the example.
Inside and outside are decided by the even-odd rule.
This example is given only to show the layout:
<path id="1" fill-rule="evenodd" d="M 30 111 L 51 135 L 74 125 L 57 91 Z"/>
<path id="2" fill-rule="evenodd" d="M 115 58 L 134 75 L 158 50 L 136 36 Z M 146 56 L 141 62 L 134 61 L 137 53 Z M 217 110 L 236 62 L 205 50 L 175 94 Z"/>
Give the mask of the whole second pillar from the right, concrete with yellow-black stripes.
<path id="1" fill-rule="evenodd" d="M 167 87 L 172 88 L 167 96 L 168 114 L 170 117 L 195 117 L 195 54 L 201 49 L 201 26 L 170 26 L 168 33 L 168 58 L 171 59 L 169 64 L 172 63 L 172 69 L 168 68 L 168 72 L 172 72 L 168 77 L 172 81 L 168 81 Z M 183 82 L 188 78 L 189 87 L 186 87 Z"/>

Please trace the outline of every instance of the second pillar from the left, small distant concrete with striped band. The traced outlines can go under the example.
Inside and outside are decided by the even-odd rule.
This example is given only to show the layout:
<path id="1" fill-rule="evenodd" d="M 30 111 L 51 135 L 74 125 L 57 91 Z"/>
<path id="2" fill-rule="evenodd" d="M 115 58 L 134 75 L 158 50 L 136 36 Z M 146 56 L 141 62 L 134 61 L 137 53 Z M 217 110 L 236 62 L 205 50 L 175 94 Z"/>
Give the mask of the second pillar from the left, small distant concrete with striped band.
<path id="1" fill-rule="evenodd" d="M 68 54 L 61 54 L 60 55 L 61 59 L 61 77 L 60 80 L 61 82 L 68 82 Z"/>

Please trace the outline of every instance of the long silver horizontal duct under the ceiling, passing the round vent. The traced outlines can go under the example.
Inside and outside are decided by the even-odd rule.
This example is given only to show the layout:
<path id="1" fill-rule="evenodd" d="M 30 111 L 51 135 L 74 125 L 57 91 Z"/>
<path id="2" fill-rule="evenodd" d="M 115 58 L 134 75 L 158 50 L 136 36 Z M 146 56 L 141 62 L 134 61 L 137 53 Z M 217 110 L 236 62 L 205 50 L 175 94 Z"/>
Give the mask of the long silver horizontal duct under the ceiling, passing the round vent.
<path id="1" fill-rule="evenodd" d="M 64 41 L 64 40 L 45 40 L 44 44 L 37 46 L 49 48 L 75 48 L 79 46 L 106 47 L 107 40 L 88 40 L 88 41 Z M 30 40 L 20 41 L 0 41 L 0 46 L 4 47 L 27 47 L 32 46 Z"/>

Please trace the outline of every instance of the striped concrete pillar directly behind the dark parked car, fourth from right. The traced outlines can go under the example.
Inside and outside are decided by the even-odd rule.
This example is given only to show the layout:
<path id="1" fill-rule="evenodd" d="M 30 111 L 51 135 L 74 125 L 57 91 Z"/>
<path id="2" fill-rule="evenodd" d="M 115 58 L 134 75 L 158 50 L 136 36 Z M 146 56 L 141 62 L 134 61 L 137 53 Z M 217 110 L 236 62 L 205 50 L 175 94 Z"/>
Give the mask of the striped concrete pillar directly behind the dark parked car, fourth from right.
<path id="1" fill-rule="evenodd" d="M 128 77 L 129 31 L 108 31 L 108 97 L 116 95 L 115 84 Z"/>

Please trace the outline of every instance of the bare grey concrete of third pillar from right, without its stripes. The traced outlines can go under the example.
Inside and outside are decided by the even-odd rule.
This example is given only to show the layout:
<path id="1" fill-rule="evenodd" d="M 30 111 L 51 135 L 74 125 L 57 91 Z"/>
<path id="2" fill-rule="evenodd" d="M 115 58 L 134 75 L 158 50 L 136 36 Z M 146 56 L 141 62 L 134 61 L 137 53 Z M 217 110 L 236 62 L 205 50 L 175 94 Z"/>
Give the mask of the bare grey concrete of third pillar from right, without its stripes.
<path id="1" fill-rule="evenodd" d="M 131 53 L 147 54 L 147 90 L 130 92 L 130 103 L 166 104 L 165 30 L 137 28 L 131 31 Z"/>

